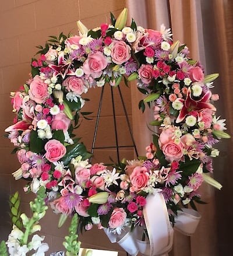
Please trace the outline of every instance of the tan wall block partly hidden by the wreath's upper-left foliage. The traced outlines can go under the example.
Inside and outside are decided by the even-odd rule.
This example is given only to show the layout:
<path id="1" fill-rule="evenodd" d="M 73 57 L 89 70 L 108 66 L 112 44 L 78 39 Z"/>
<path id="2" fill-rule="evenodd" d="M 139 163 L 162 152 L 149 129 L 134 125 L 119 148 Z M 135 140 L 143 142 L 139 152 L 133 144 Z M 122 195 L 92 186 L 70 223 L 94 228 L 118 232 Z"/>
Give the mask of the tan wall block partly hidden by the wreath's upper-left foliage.
<path id="1" fill-rule="evenodd" d="M 42 45 L 44 47 L 45 42 L 50 39 L 49 36 L 58 36 L 57 27 L 19 36 L 20 62 L 31 62 L 31 58 L 39 51 L 36 46 Z"/>

